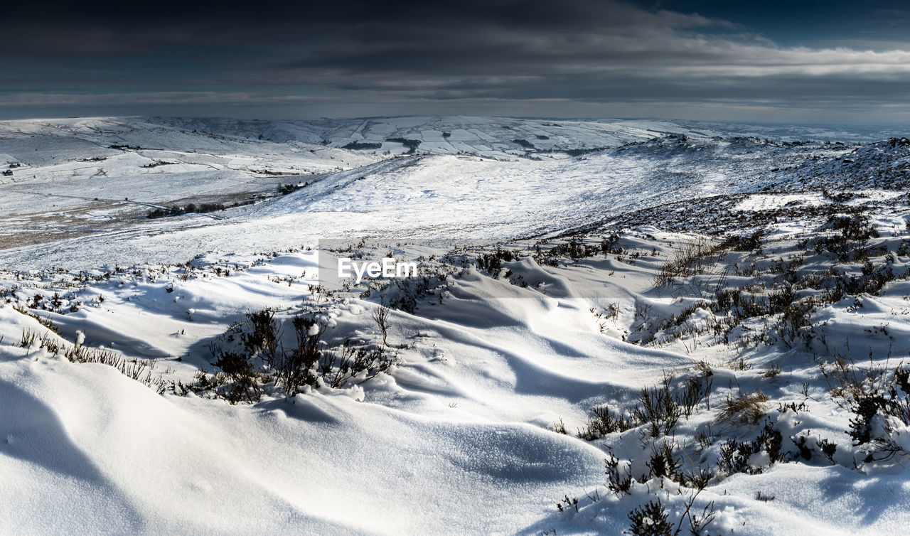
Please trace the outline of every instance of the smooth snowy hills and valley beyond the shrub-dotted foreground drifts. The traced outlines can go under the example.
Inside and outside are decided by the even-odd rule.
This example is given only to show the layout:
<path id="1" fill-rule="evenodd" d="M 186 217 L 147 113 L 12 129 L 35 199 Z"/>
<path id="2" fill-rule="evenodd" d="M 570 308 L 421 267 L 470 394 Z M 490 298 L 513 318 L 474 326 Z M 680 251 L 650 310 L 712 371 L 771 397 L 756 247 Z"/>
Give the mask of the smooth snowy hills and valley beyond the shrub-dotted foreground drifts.
<path id="1" fill-rule="evenodd" d="M 421 142 L 413 154 L 398 142 L 332 148 L 347 146 L 358 129 L 421 140 L 417 130 L 441 137 L 456 126 L 487 141 L 458 151 Z M 98 258 L 167 263 L 198 250 L 255 252 L 318 237 L 521 238 L 590 225 L 604 211 L 751 191 L 786 179 L 774 170 L 853 148 L 784 146 L 666 121 L 107 118 L 15 121 L 0 130 L 9 173 L 0 176 L 0 266 L 15 268 L 93 268 Z M 329 145 L 309 145 L 316 138 L 304 131 Z M 561 149 L 513 143 L 544 131 L 546 147 Z"/>

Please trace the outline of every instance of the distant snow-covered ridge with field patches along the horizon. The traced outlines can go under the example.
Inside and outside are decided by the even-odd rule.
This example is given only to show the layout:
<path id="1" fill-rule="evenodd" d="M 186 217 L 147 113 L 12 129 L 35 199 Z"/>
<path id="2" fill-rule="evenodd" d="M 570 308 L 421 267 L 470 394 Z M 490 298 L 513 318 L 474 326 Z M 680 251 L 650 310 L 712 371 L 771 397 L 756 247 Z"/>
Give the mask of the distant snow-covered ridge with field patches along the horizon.
<path id="1" fill-rule="evenodd" d="M 0 122 L 0 158 L 60 157 L 71 146 L 162 150 L 236 151 L 237 144 L 279 144 L 385 153 L 470 155 L 496 159 L 578 156 L 598 148 L 666 136 L 755 137 L 773 141 L 869 143 L 903 136 L 873 127 L 756 126 L 662 119 L 529 119 L 476 116 L 406 116 L 359 119 L 239 120 L 182 117 L 87 117 Z M 42 137 L 48 151 L 37 151 Z M 379 144 L 379 147 L 377 147 Z M 53 147 L 52 147 L 53 146 Z M 21 154 L 29 151 L 29 154 Z"/>

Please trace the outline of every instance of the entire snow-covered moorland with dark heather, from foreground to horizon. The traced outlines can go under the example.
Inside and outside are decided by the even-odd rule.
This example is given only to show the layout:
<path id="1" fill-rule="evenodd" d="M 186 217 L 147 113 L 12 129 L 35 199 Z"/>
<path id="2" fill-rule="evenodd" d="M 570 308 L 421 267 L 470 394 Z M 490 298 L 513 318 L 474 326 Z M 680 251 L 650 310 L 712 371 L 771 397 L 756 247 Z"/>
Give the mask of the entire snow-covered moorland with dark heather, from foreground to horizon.
<path id="1" fill-rule="evenodd" d="M 878 134 L 0 124 L 0 519 L 903 533 L 910 141 Z"/>

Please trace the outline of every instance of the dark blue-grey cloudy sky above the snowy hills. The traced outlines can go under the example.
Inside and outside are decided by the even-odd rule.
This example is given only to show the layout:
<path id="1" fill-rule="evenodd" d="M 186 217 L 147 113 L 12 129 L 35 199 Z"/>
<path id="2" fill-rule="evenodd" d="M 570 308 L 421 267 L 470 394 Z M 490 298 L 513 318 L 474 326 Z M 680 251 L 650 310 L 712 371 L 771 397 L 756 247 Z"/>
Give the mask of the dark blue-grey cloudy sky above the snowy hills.
<path id="1" fill-rule="evenodd" d="M 906 2 L 31 2 L 0 118 L 910 123 Z"/>

